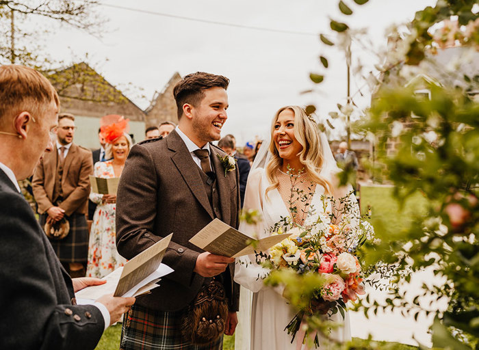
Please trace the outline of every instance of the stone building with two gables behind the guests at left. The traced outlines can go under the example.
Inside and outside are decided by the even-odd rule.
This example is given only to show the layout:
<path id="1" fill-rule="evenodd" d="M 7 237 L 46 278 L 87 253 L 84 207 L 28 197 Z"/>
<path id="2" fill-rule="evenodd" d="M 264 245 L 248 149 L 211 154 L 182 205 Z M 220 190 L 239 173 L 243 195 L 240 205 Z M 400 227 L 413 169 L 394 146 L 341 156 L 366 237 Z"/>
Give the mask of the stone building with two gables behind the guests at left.
<path id="1" fill-rule="evenodd" d="M 85 62 L 68 68 L 47 72 L 60 96 L 62 112 L 72 113 L 78 129 L 75 143 L 91 149 L 99 148 L 99 119 L 107 114 L 129 118 L 133 141 L 144 139 L 146 127 L 166 120 L 177 123 L 177 106 L 174 103 L 173 87 L 181 80 L 178 72 L 172 75 L 161 92 L 155 92 L 151 105 L 143 111 L 120 90 L 105 80 Z"/>

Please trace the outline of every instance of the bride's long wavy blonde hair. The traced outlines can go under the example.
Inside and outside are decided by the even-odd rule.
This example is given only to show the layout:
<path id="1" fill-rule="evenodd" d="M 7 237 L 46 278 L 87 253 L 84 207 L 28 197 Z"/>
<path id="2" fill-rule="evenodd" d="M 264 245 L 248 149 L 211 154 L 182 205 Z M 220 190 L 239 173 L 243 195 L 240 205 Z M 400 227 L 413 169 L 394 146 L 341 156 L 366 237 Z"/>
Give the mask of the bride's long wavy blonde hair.
<path id="1" fill-rule="evenodd" d="M 278 120 L 279 113 L 285 109 L 290 109 L 294 113 L 294 137 L 296 137 L 296 140 L 302 146 L 302 150 L 298 153 L 298 156 L 301 164 L 304 165 L 305 173 L 308 174 L 309 178 L 314 183 L 324 187 L 326 194 L 331 195 L 331 193 L 333 193 L 333 186 L 327 178 L 320 175 L 324 162 L 322 147 L 326 147 L 327 145 L 323 146 L 321 144 L 318 125 L 312 119 L 309 119 L 304 109 L 298 106 L 285 106 L 280 108 L 272 120 L 270 142 L 270 153 L 272 154 L 272 157 L 266 166 L 266 176 L 268 176 L 268 180 L 270 180 L 272 185 L 266 189 L 266 194 L 272 189 L 279 187 L 279 180 L 276 176 L 276 172 L 283 164 L 283 159 L 279 157 L 279 152 L 274 143 L 273 133 L 274 125 L 276 124 L 276 120 Z"/>

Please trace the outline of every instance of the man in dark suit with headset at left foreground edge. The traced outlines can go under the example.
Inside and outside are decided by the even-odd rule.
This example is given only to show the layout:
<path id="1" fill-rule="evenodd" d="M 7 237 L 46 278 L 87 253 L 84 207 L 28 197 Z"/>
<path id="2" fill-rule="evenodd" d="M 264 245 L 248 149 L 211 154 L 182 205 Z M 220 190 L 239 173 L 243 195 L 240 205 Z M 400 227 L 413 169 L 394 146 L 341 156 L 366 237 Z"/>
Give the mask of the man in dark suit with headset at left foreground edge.
<path id="1" fill-rule="evenodd" d="M 135 299 L 76 305 L 75 291 L 103 282 L 70 279 L 17 183 L 53 150 L 58 95 L 39 72 L 1 66 L 0 101 L 0 349 L 94 349 Z"/>

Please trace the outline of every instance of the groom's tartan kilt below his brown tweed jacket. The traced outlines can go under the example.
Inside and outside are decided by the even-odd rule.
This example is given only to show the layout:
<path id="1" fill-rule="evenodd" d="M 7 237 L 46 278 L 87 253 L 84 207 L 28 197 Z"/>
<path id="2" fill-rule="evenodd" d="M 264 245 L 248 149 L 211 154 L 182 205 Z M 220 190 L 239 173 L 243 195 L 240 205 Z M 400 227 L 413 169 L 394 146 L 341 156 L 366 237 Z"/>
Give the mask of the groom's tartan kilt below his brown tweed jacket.
<path id="1" fill-rule="evenodd" d="M 221 350 L 223 336 L 208 345 L 183 340 L 181 329 L 186 309 L 158 311 L 133 305 L 125 314 L 120 350 Z"/>

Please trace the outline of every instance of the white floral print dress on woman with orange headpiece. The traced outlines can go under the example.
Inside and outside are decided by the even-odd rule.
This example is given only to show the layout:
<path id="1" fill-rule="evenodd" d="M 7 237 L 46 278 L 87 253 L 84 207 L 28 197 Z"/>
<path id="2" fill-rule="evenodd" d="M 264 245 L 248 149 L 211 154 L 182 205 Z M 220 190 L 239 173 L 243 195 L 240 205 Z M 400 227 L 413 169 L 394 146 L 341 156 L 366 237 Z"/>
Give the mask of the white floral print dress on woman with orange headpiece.
<path id="1" fill-rule="evenodd" d="M 114 178 L 112 161 L 99 161 L 94 165 L 94 176 Z M 90 200 L 96 204 L 90 241 L 88 243 L 87 277 L 103 278 L 127 261 L 116 250 L 116 204 L 102 204 L 103 195 L 90 193 Z"/>

